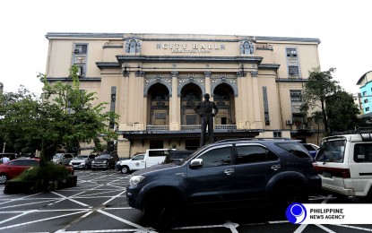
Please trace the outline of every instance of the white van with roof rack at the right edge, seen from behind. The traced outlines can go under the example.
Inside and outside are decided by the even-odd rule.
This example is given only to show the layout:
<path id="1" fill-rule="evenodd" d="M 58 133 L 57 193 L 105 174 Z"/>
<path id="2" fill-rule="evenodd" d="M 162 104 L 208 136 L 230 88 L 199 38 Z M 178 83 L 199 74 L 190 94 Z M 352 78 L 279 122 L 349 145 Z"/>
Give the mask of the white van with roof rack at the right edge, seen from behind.
<path id="1" fill-rule="evenodd" d="M 315 167 L 325 191 L 372 201 L 372 129 L 324 137 Z"/>

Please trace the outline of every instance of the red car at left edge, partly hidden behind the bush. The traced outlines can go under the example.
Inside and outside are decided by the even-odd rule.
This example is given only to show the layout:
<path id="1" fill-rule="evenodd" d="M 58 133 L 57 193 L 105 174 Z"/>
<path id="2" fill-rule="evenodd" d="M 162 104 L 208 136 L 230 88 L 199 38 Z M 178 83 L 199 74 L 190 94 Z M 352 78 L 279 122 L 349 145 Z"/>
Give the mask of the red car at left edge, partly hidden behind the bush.
<path id="1" fill-rule="evenodd" d="M 39 166 L 39 159 L 18 159 L 0 164 L 0 184 L 4 184 L 7 180 L 20 175 L 22 171 L 35 166 Z M 74 175 L 73 168 L 66 168 L 70 174 Z"/>

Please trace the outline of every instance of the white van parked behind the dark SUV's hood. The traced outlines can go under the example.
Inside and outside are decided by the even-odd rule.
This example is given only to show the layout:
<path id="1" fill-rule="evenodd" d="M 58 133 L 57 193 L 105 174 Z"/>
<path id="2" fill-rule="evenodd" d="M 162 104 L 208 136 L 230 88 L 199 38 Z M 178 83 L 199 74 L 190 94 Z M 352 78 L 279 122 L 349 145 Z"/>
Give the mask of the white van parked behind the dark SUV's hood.
<path id="1" fill-rule="evenodd" d="M 143 154 L 138 154 L 130 160 L 121 160 L 117 164 L 117 169 L 121 173 L 149 168 L 153 165 L 164 163 L 165 157 L 169 154 L 169 150 L 174 149 L 150 149 Z"/>

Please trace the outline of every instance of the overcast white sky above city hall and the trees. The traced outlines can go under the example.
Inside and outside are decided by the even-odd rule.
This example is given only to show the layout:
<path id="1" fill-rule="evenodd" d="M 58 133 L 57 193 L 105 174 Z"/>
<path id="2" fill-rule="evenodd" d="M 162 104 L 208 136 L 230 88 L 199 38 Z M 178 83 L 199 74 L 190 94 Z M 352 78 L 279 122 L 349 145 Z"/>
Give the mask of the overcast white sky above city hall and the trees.
<path id="1" fill-rule="evenodd" d="M 171 33 L 320 39 L 322 71 L 349 92 L 372 70 L 372 1 L 11 0 L 0 3 L 0 82 L 40 93 L 48 32 Z"/>

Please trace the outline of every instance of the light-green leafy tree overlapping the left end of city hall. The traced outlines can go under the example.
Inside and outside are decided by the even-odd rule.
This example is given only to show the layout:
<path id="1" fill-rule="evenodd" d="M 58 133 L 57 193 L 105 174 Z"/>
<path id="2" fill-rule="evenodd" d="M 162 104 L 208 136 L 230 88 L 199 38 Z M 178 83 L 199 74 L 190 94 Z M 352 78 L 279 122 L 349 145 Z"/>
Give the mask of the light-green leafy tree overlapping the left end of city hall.
<path id="1" fill-rule="evenodd" d="M 77 73 L 78 67 L 74 65 L 70 70 L 72 83 L 56 82 L 53 85 L 47 81 L 46 75 L 39 74 L 44 83 L 40 121 L 48 127 L 42 142 L 46 158 L 50 158 L 61 144 L 71 148 L 78 146 L 79 142 L 94 142 L 97 150 L 103 151 L 105 146 L 100 138 L 104 142 L 117 139 L 117 133 L 109 125 L 115 125 L 118 116 L 115 112 L 105 111 L 106 102 L 93 105 L 96 93 L 79 89 Z"/>

